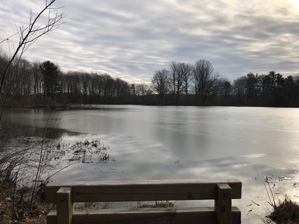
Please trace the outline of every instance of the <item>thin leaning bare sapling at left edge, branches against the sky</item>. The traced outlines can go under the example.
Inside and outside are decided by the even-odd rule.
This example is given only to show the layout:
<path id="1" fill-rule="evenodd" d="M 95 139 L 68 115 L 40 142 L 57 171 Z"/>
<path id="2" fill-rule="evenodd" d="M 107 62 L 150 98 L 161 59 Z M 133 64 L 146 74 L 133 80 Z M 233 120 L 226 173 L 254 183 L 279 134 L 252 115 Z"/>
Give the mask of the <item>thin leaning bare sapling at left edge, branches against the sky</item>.
<path id="1" fill-rule="evenodd" d="M 44 34 L 49 33 L 50 31 L 56 30 L 61 24 L 64 22 L 60 22 L 62 18 L 65 17 L 64 13 L 58 13 L 58 8 L 52 8 L 51 5 L 55 2 L 56 0 L 46 0 L 45 7 L 42 9 L 42 11 L 33 19 L 33 14 L 32 10 L 30 10 L 30 22 L 27 27 L 20 26 L 16 27 L 17 28 L 17 33 L 14 35 L 18 34 L 19 35 L 19 44 L 16 47 L 16 50 L 14 50 L 12 56 L 9 58 L 9 62 L 7 66 L 5 67 L 4 71 L 0 71 L 1 77 L 1 82 L 0 82 L 0 98 L 2 95 L 2 90 L 4 87 L 4 82 L 7 77 L 7 72 L 10 69 L 11 64 L 13 61 L 16 59 L 16 67 L 19 65 L 20 59 L 22 58 L 23 53 L 37 40 L 39 37 L 43 36 Z M 39 24 L 38 21 L 40 17 L 48 12 L 48 22 L 46 24 Z M 12 36 L 14 36 L 12 35 Z M 12 37 L 10 36 L 10 37 Z M 9 43 L 9 38 L 5 38 L 4 40 L 1 39 L 0 43 Z M 14 77 L 14 75 L 13 75 Z M 5 102 L 5 101 L 4 101 Z M 3 105 L 4 108 L 5 104 Z M 3 115 L 3 110 L 1 111 L 1 116 L 0 116 L 0 124 L 2 120 L 2 115 Z"/>

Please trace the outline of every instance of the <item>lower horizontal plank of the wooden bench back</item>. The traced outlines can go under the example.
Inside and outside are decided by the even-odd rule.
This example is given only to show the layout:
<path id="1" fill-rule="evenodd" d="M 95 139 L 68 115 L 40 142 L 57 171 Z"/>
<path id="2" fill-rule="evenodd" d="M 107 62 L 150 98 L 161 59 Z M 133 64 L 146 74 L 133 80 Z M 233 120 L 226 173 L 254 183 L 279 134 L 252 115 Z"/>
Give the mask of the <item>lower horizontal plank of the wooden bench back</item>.
<path id="1" fill-rule="evenodd" d="M 241 211 L 232 207 L 232 224 L 241 223 Z M 100 209 L 74 210 L 73 224 L 213 224 L 216 223 L 214 207 L 206 208 L 138 208 L 138 209 Z M 57 224 L 56 211 L 50 211 L 47 224 Z"/>

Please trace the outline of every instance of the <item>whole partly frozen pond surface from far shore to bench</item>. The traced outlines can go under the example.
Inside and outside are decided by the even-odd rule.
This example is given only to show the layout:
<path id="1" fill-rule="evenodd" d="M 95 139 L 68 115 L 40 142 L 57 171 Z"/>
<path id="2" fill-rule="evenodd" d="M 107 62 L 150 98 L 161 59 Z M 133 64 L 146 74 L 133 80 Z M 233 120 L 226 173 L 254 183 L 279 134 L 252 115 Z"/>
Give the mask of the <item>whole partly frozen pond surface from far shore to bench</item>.
<path id="1" fill-rule="evenodd" d="M 62 142 L 99 139 L 115 161 L 76 164 L 54 181 L 238 178 L 242 199 L 233 206 L 242 211 L 242 223 L 259 223 L 258 215 L 267 214 L 264 176 L 276 183 L 270 185 L 274 191 L 297 197 L 298 108 L 94 106 L 106 109 L 54 111 L 48 126 L 60 121 Z M 4 122 L 42 127 L 48 116 L 44 110 L 7 110 Z M 190 204 L 213 201 L 177 202 Z"/>

